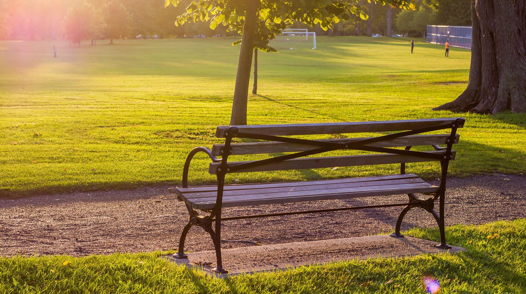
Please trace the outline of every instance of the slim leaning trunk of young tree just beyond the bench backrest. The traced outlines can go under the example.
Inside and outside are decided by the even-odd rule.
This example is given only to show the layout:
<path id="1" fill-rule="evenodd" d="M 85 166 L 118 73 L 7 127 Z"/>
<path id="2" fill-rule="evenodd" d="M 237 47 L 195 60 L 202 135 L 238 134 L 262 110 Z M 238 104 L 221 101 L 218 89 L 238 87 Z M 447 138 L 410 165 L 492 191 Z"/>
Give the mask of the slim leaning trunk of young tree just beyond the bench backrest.
<path id="1" fill-rule="evenodd" d="M 254 49 L 257 4 L 258 2 L 255 0 L 248 0 L 247 3 L 230 125 L 247 124 L 248 84 L 250 83 L 250 68 L 252 67 L 252 49 Z"/>

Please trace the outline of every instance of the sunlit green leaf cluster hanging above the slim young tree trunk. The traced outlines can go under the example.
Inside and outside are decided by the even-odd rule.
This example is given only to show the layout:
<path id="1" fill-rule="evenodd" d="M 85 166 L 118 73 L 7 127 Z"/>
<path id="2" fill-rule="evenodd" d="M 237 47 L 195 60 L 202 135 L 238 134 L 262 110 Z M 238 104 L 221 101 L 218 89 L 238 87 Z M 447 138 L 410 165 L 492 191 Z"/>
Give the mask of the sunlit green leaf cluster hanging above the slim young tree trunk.
<path id="1" fill-rule="evenodd" d="M 165 7 L 177 6 L 183 0 L 165 0 Z M 228 26 L 229 31 L 242 34 L 245 12 L 250 1 L 258 3 L 255 48 L 265 52 L 275 52 L 269 40 L 280 34 L 281 30 L 301 22 L 310 26 L 319 25 L 323 30 L 332 28 L 340 20 L 348 21 L 355 16 L 367 19 L 367 14 L 358 5 L 358 0 L 193 0 L 186 12 L 177 16 L 175 25 L 186 22 L 210 21 L 210 28 L 219 24 Z M 374 1 L 374 0 L 368 0 Z M 413 0 L 377 1 L 404 9 L 414 9 Z M 237 40 L 232 45 L 240 44 Z"/>

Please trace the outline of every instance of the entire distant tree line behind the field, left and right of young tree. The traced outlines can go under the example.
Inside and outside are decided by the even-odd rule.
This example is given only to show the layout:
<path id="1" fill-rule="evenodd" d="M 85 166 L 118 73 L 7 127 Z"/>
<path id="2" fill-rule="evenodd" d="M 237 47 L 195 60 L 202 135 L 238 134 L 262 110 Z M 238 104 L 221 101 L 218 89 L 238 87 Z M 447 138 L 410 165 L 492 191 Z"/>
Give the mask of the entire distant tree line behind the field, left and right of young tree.
<path id="1" fill-rule="evenodd" d="M 136 38 L 157 35 L 195 37 L 237 35 L 222 24 L 209 22 L 175 26 L 175 15 L 187 8 L 189 0 L 164 7 L 161 0 L 0 0 L 0 39 L 82 40 Z M 426 25 L 471 25 L 471 0 L 417 0 L 415 11 L 359 1 L 369 19 L 355 17 L 341 21 L 328 31 L 312 28 L 317 35 L 403 34 L 422 37 Z M 294 24 L 293 27 L 308 27 Z"/>

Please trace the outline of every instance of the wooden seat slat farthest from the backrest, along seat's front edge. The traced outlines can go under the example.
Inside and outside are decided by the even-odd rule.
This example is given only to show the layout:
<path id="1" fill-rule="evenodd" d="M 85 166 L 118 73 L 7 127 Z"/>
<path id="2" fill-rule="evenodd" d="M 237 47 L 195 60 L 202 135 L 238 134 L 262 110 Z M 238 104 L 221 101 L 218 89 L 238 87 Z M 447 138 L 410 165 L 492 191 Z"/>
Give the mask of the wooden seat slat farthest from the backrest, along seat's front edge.
<path id="1" fill-rule="evenodd" d="M 261 189 L 261 188 L 277 188 L 277 187 L 296 187 L 296 186 L 310 186 L 310 185 L 325 185 L 325 184 L 337 184 L 337 183 L 357 183 L 361 181 L 382 181 L 382 180 L 395 180 L 395 179 L 406 179 L 406 178 L 417 178 L 415 174 L 403 174 L 403 175 L 387 175 L 387 176 L 372 176 L 372 177 L 359 177 L 359 178 L 342 178 L 342 179 L 328 179 L 328 180 L 311 180 L 311 181 L 289 181 L 289 182 L 277 182 L 277 183 L 256 183 L 256 184 L 234 184 L 225 185 L 224 191 L 231 190 L 248 190 L 248 189 Z M 183 192 L 217 192 L 217 186 L 198 186 L 188 188 L 169 188 L 170 193 L 177 193 L 179 196 Z"/>

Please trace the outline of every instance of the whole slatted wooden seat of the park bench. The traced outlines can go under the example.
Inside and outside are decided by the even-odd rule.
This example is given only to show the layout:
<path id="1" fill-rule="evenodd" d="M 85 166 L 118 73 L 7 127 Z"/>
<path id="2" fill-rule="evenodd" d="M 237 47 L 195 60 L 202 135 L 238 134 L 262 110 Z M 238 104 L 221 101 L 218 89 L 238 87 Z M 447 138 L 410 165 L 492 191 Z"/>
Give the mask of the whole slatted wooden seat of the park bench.
<path id="1" fill-rule="evenodd" d="M 222 207 L 436 192 L 414 174 L 263 184 L 225 185 Z M 213 209 L 217 186 L 170 188 L 194 209 Z"/>

